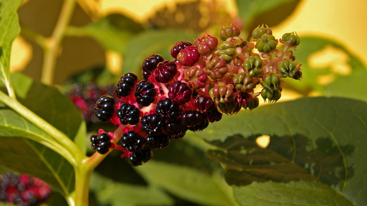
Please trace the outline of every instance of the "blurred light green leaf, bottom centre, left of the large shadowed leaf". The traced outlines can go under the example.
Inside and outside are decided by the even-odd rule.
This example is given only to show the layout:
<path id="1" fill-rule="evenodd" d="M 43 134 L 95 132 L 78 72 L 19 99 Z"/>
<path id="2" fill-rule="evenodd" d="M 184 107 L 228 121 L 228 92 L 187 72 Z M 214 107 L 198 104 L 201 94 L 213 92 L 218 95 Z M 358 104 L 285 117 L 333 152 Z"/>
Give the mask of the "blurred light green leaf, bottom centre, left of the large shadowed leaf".
<path id="1" fill-rule="evenodd" d="M 188 166 L 150 160 L 136 167 L 150 184 L 164 188 L 171 194 L 200 205 L 231 205 L 222 184 L 207 173 Z"/>

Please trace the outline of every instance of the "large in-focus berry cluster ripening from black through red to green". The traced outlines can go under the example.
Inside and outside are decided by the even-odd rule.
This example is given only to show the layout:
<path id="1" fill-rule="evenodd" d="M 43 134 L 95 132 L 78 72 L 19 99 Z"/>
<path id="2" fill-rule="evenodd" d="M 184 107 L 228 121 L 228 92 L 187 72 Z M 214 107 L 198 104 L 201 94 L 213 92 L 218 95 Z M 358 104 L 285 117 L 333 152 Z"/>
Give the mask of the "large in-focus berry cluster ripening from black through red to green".
<path id="1" fill-rule="evenodd" d="M 193 43 L 179 41 L 171 49 L 174 60 L 148 56 L 142 63 L 143 80 L 127 73 L 116 85 L 119 99 L 102 96 L 97 101 L 95 115 L 101 122 L 127 125 L 116 148 L 131 165 L 147 162 L 152 150 L 167 147 L 187 130 L 207 128 L 222 114 L 258 107 L 259 95 L 277 101 L 283 78 L 302 77 L 288 51 L 299 44 L 297 34 L 284 34 L 281 48 L 268 26 L 252 33 L 256 45 L 239 34 L 239 27 L 230 23 L 219 32 L 221 42 L 208 34 Z M 258 85 L 263 89 L 254 92 Z"/>

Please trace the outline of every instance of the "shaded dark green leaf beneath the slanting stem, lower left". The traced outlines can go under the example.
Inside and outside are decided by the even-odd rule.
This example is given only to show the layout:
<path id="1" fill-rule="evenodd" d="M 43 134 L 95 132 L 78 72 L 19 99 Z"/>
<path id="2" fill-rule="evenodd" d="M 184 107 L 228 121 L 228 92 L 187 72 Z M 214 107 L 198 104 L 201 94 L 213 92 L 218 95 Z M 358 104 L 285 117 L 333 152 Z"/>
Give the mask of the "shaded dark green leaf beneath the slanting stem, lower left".
<path id="1" fill-rule="evenodd" d="M 0 114 L 2 113 L 3 109 L 0 109 Z M 14 112 L 7 115 L 9 118 L 17 118 L 17 114 Z M 28 132 L 28 136 L 37 135 L 32 134 L 34 131 L 27 128 L 31 126 L 29 122 L 23 119 L 23 123 L 24 128 L 16 128 L 18 131 Z M 1 120 L 0 125 L 3 125 Z M 0 133 L 0 140 L 0 165 L 19 173 L 38 177 L 52 185 L 55 190 L 65 197 L 69 196 L 74 190 L 73 167 L 55 151 L 30 139 L 20 136 L 7 136 L 2 132 Z"/>

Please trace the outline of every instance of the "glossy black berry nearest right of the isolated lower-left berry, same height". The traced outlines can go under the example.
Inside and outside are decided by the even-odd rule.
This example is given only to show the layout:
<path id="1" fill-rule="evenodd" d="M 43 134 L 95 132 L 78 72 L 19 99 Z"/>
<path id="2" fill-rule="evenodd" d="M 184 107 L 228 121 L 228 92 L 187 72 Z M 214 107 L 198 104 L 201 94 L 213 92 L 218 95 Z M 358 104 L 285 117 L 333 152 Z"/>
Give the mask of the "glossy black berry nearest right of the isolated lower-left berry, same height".
<path id="1" fill-rule="evenodd" d="M 135 130 L 129 130 L 121 136 L 121 147 L 129 152 L 141 150 L 145 143 L 145 138 Z"/>

